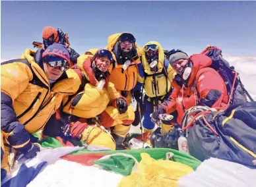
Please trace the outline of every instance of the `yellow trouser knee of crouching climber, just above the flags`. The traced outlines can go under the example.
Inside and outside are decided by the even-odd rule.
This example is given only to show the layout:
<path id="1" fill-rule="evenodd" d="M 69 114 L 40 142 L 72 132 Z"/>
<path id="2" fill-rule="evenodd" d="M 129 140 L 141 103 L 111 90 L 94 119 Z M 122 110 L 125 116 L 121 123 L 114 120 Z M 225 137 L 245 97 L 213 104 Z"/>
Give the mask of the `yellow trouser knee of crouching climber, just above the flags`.
<path id="1" fill-rule="evenodd" d="M 98 126 L 88 126 L 85 128 L 80 141 L 88 145 L 107 147 L 115 150 L 115 141 L 112 136 Z"/>

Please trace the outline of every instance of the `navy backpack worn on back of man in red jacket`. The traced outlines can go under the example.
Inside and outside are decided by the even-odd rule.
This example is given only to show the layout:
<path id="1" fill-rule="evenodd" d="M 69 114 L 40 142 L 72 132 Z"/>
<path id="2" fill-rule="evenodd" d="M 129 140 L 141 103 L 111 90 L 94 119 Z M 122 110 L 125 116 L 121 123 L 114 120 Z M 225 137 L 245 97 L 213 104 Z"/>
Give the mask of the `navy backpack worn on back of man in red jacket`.
<path id="1" fill-rule="evenodd" d="M 247 102 L 247 97 L 253 101 L 252 97 L 243 87 L 238 72 L 236 72 L 234 67 L 230 67 L 228 61 L 223 59 L 221 49 L 215 46 L 208 46 L 201 54 L 207 55 L 212 59 L 210 67 L 214 68 L 224 80 L 228 97 L 231 97 L 230 105 L 245 103 Z"/>

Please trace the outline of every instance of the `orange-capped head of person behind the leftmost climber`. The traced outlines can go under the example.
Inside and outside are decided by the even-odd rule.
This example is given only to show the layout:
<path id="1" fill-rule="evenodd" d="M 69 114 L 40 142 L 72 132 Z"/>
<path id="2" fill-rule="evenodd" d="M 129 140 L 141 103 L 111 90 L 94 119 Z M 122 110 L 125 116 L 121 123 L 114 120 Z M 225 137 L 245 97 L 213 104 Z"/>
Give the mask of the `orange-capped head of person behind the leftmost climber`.
<path id="1" fill-rule="evenodd" d="M 45 49 L 53 44 L 53 43 L 58 43 L 59 42 L 59 36 L 58 32 L 55 28 L 52 26 L 46 26 L 42 32 L 42 38 L 43 38 L 43 43 Z"/>

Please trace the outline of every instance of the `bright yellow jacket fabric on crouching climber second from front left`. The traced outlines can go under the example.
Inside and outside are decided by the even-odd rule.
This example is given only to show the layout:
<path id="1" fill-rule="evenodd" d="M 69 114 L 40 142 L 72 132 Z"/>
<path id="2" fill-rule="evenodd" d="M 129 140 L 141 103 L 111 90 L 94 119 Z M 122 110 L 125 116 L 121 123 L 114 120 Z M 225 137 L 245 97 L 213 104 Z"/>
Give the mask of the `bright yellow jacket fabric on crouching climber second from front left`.
<path id="1" fill-rule="evenodd" d="M 90 80 L 88 73 L 82 68 L 82 64 L 90 55 L 80 55 L 77 60 L 77 67 L 84 73 L 87 80 Z M 75 75 L 77 76 L 77 75 Z M 71 110 L 71 103 L 73 99 L 80 97 L 79 102 Z M 96 86 L 93 86 L 90 83 L 87 83 L 84 86 L 84 90 L 75 95 L 71 101 L 63 108 L 65 113 L 76 115 L 77 117 L 82 117 L 85 119 L 96 117 L 100 115 L 110 102 L 113 102 L 116 98 L 120 97 L 119 92 L 115 89 L 115 86 L 112 82 L 109 82 L 107 88 L 102 88 L 102 90 L 97 90 Z M 66 103 L 67 97 L 63 99 L 63 103 Z"/>

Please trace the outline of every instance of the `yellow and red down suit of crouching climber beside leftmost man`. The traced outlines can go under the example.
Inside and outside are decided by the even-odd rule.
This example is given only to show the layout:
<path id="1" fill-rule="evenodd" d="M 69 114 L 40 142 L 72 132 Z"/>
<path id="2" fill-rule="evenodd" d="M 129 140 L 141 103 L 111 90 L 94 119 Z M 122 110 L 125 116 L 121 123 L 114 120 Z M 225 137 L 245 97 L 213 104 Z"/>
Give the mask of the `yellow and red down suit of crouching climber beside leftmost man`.
<path id="1" fill-rule="evenodd" d="M 115 106 L 115 101 L 122 96 L 108 78 L 102 90 L 96 89 L 98 81 L 94 78 L 92 68 L 90 68 L 92 64 L 92 55 L 80 55 L 77 62 L 78 68 L 82 70 L 89 82 L 82 92 L 79 93 L 82 97 L 73 109 L 73 115 L 84 119 L 93 118 L 99 115 L 100 124 L 102 126 L 105 128 L 114 126 L 113 134 L 117 134 L 117 136 L 124 138 L 129 132 L 130 124 L 135 119 L 133 109 L 129 106 L 125 113 L 119 113 Z M 67 98 L 63 99 L 63 103 L 66 101 Z M 72 100 L 64 107 L 63 111 L 65 113 L 71 114 L 71 103 Z"/>

